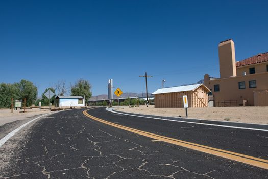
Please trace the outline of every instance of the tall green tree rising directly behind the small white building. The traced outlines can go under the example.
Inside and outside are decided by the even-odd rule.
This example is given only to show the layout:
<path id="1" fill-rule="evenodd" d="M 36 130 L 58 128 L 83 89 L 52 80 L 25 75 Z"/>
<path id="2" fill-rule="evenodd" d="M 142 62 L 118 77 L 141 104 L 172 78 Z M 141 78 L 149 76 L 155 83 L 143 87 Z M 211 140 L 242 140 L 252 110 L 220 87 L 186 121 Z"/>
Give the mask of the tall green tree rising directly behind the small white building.
<path id="1" fill-rule="evenodd" d="M 89 98 L 91 98 L 92 93 L 90 91 L 91 85 L 89 81 L 78 79 L 75 85 L 71 86 L 71 95 L 74 96 L 85 96 L 85 103 L 88 103 Z"/>

